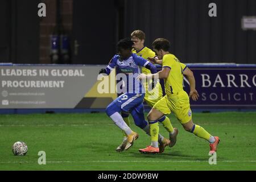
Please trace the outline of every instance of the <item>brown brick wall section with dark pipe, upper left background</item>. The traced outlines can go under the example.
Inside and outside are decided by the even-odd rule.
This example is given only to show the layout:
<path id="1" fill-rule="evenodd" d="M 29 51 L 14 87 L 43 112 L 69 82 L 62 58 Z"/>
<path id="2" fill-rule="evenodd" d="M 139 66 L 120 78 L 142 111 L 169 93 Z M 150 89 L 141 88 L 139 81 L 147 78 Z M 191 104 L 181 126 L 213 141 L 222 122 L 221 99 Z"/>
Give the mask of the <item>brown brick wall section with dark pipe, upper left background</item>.
<path id="1" fill-rule="evenodd" d="M 40 64 L 50 64 L 50 37 L 56 26 L 57 1 L 41 0 L 40 2 L 46 3 L 46 17 L 40 19 L 39 61 Z M 61 0 L 60 3 L 64 30 L 70 35 L 72 32 L 73 0 Z"/>

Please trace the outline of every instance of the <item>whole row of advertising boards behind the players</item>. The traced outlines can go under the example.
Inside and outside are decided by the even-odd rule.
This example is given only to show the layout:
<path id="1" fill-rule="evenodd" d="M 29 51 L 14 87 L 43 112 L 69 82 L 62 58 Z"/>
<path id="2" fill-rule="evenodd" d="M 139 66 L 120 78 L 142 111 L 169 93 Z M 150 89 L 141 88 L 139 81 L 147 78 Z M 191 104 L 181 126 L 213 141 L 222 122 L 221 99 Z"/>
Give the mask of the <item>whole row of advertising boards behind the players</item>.
<path id="1" fill-rule="evenodd" d="M 195 75 L 200 95 L 197 102 L 191 101 L 192 109 L 256 110 L 256 64 L 187 66 Z M 115 89 L 111 89 L 115 85 L 115 72 L 105 80 L 107 85 L 102 86 L 104 78 L 98 77 L 98 70 L 104 67 L 0 64 L 0 113 L 104 111 L 117 97 Z M 160 83 L 164 89 L 163 80 Z M 185 78 L 184 90 L 189 93 Z"/>

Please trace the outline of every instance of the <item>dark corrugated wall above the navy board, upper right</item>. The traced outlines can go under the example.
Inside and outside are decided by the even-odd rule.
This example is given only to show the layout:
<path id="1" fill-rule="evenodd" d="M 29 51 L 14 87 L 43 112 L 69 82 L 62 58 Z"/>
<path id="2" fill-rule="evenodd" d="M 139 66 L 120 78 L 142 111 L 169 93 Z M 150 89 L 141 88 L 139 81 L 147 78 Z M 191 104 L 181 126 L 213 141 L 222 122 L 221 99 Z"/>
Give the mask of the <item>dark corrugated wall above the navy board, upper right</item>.
<path id="1" fill-rule="evenodd" d="M 243 16 L 255 16 L 255 0 L 124 1 L 124 36 L 141 29 L 148 47 L 166 38 L 183 62 L 255 64 L 256 31 L 241 27 Z M 210 3 L 216 3 L 216 17 L 208 15 Z"/>

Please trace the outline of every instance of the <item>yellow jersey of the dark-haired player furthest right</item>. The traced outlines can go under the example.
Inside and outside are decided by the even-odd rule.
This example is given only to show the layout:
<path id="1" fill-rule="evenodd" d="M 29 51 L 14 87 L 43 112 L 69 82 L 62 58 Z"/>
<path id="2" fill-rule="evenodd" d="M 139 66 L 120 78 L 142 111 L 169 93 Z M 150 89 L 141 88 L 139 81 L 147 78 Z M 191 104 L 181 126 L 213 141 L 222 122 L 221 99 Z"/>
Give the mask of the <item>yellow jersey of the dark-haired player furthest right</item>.
<path id="1" fill-rule="evenodd" d="M 163 68 L 164 67 L 171 69 L 168 78 L 164 79 L 166 94 L 167 96 L 171 96 L 183 90 L 183 71 L 187 66 L 180 63 L 177 57 L 169 53 L 163 56 Z"/>

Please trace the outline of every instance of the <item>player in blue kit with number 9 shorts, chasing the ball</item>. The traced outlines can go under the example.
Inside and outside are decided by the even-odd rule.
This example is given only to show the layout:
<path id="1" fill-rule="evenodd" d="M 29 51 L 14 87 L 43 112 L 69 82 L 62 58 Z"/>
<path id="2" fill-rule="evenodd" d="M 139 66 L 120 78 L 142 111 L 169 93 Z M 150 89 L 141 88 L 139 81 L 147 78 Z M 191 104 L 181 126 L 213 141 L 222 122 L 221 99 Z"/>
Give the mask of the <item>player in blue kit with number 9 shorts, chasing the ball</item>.
<path id="1" fill-rule="evenodd" d="M 110 72 L 117 67 L 118 71 L 125 75 L 126 93 L 116 98 L 106 108 L 106 114 L 108 114 L 115 125 L 127 135 L 127 142 L 124 146 L 125 150 L 128 150 L 133 145 L 134 140 L 136 140 L 139 135 L 127 126 L 119 113 L 121 111 L 131 113 L 135 125 L 150 135 L 148 122 L 144 119 L 143 98 L 145 90 L 141 82 L 136 80 L 136 77 L 141 73 L 141 67 L 149 69 L 153 74 L 157 72 L 156 67 L 150 63 L 150 61 L 131 52 L 133 44 L 130 39 L 120 40 L 117 44 L 119 54 L 114 55 L 108 67 L 101 69 L 99 72 L 99 74 L 105 73 L 109 75 Z M 163 139 L 163 136 L 159 134 L 159 138 Z M 166 147 L 166 145 L 161 146 L 160 143 L 160 147 Z"/>

